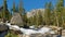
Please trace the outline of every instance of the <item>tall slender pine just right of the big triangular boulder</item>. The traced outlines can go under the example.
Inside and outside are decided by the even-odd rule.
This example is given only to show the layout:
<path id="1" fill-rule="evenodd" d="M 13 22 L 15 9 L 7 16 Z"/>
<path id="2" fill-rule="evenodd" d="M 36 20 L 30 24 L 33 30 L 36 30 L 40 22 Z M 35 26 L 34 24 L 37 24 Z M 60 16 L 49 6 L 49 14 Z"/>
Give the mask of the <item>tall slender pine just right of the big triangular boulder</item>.
<path id="1" fill-rule="evenodd" d="M 21 16 L 22 16 L 23 24 L 27 24 L 27 16 L 26 16 L 25 9 L 23 8 L 23 2 L 22 2 L 22 0 L 20 0 L 18 12 L 20 12 L 20 14 L 21 14 Z"/>

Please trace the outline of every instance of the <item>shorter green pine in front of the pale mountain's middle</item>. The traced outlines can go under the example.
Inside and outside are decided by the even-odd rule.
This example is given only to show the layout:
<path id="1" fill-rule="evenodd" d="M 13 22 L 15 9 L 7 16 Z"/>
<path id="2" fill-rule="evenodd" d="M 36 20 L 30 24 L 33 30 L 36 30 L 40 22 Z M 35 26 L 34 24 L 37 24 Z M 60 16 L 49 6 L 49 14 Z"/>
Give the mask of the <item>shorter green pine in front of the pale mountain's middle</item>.
<path id="1" fill-rule="evenodd" d="M 42 15 L 41 15 L 40 10 L 36 12 L 36 15 L 34 16 L 34 20 L 35 20 L 34 22 L 35 22 L 36 26 L 39 26 L 39 25 L 42 24 Z"/>

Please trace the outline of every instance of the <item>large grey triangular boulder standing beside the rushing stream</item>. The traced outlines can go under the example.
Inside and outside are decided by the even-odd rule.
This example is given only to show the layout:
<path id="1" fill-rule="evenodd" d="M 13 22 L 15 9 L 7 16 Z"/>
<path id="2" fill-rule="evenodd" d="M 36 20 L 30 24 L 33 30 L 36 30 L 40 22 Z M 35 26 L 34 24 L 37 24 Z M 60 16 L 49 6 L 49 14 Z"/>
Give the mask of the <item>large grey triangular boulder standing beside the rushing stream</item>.
<path id="1" fill-rule="evenodd" d="M 14 13 L 13 14 L 13 16 L 11 18 L 11 24 L 22 26 L 23 21 L 22 21 L 22 17 L 21 17 L 20 13 Z"/>

